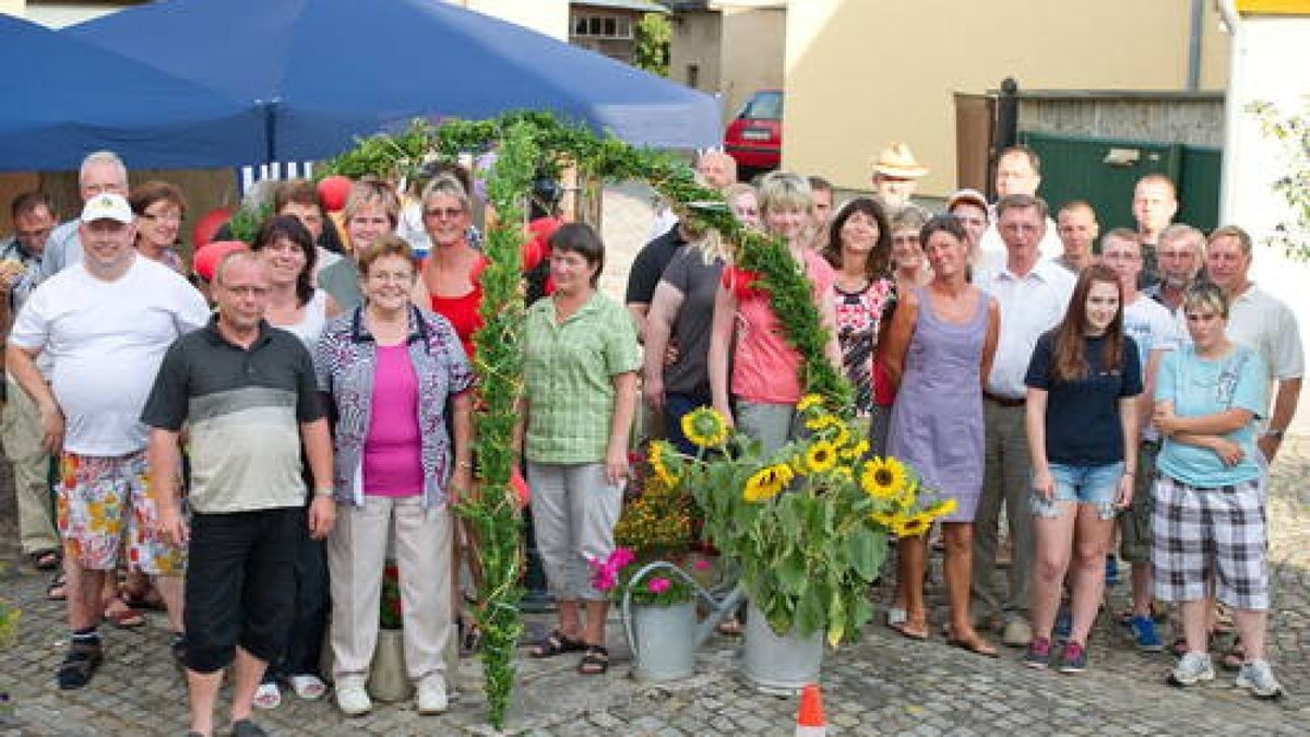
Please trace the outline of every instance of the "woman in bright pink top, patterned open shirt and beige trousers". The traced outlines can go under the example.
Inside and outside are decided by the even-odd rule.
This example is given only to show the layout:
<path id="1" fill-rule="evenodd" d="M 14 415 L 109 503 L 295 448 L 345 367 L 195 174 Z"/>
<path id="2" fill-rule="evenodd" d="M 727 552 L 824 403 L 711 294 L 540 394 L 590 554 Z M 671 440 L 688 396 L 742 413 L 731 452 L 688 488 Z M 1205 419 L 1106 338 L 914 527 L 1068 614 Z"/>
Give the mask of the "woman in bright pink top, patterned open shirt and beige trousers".
<path id="1" fill-rule="evenodd" d="M 453 675 L 451 505 L 472 481 L 473 370 L 451 323 L 410 302 L 418 261 L 409 244 L 385 235 L 358 257 L 364 304 L 331 320 L 314 351 L 337 414 L 339 511 L 328 538 L 337 706 L 372 708 L 364 683 L 394 536 L 405 666 L 419 713 L 436 713 Z"/>

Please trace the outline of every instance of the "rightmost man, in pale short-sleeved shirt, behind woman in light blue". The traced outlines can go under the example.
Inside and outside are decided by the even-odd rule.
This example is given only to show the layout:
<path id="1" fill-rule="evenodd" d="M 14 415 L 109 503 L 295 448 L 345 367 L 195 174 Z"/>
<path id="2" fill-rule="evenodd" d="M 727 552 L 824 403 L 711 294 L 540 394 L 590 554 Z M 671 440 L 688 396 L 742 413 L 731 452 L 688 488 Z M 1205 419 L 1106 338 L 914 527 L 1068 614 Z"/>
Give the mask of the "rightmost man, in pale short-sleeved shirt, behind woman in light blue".
<path id="1" fill-rule="evenodd" d="M 1251 236 L 1242 228 L 1224 226 L 1210 233 L 1205 271 L 1229 298 L 1229 338 L 1259 351 L 1271 386 L 1277 386 L 1264 434 L 1256 441 L 1272 464 L 1296 416 L 1305 375 L 1297 317 L 1286 304 L 1251 282 Z"/>

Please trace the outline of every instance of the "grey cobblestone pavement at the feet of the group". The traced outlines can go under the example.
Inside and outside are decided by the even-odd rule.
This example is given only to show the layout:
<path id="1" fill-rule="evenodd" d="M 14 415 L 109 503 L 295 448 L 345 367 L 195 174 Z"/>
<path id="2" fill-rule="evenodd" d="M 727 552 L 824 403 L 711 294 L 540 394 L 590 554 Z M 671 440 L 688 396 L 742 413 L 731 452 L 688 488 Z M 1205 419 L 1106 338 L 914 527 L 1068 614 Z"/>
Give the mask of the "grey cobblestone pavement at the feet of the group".
<path id="1" fill-rule="evenodd" d="M 1102 622 L 1091 667 L 1081 675 L 1035 671 L 1018 650 L 1000 660 L 950 648 L 939 635 L 912 643 L 883 627 L 829 652 L 823 670 L 829 734 L 1310 734 L 1310 508 L 1298 501 L 1310 476 L 1310 437 L 1294 438 L 1275 467 L 1269 518 L 1276 611 L 1271 657 L 1289 691 L 1258 702 L 1220 671 L 1210 685 L 1175 690 L 1163 683 L 1166 654 L 1142 654 Z M 13 540 L 12 494 L 0 479 L 0 532 Z M 0 656 L 0 691 L 16 713 L 0 732 L 16 734 L 182 734 L 186 694 L 166 654 L 161 615 L 138 631 L 106 628 L 109 652 L 92 683 L 60 692 L 54 671 L 66 647 L 62 607 L 45 601 L 47 577 L 18 561 L 7 543 L 0 595 L 24 611 L 16 647 Z M 1114 590 L 1123 603 L 1125 586 Z M 886 601 L 878 594 L 879 601 Z M 529 618 L 541 631 L 546 620 Z M 1172 636 L 1166 631 L 1166 636 Z M 627 678 L 629 652 L 610 628 L 614 666 L 583 678 L 571 658 L 519 658 L 508 733 L 698 736 L 791 734 L 795 700 L 766 696 L 738 677 L 735 643 L 715 637 L 698 656 L 697 674 L 671 686 Z M 491 734 L 483 723 L 478 666 L 464 661 L 460 698 L 448 715 L 421 717 L 411 704 L 381 704 L 346 720 L 330 702 L 287 694 L 282 708 L 258 713 L 274 734 Z"/>

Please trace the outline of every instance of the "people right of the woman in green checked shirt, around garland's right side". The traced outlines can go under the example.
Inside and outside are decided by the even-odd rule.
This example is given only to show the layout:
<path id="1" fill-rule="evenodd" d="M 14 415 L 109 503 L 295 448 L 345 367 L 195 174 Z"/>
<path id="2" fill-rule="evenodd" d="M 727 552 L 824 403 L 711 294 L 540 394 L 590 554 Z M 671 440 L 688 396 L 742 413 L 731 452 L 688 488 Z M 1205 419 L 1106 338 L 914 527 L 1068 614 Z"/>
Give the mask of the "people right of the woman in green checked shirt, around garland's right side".
<path id="1" fill-rule="evenodd" d="M 1117 618 L 1138 648 L 1166 648 L 1157 618 L 1178 605 L 1171 683 L 1214 677 L 1209 649 L 1231 615 L 1222 665 L 1258 696 L 1281 694 L 1264 649 L 1264 493 L 1303 355 L 1292 311 L 1251 282 L 1248 233 L 1172 223 L 1174 184 L 1148 174 L 1137 227 L 1102 237 L 1089 202 L 1048 212 L 1024 146 L 1000 153 L 996 203 L 965 189 L 935 215 L 910 199 L 926 168 L 901 143 L 874 161 L 872 195 L 840 206 L 820 177 L 752 188 L 723 155 L 701 163 L 808 277 L 872 452 L 956 501 L 939 532 L 948 643 L 996 656 L 996 631 L 1026 665 L 1078 673 L 1121 557 L 1132 606 Z M 718 233 L 679 220 L 651 240 L 626 300 L 643 396 L 672 442 L 690 452 L 679 421 L 703 404 L 765 451 L 804 434 L 799 357 Z M 1002 519 L 1013 560 L 998 586 Z M 927 555 L 926 535 L 897 543 L 887 623 L 916 640 L 931 633 Z"/>

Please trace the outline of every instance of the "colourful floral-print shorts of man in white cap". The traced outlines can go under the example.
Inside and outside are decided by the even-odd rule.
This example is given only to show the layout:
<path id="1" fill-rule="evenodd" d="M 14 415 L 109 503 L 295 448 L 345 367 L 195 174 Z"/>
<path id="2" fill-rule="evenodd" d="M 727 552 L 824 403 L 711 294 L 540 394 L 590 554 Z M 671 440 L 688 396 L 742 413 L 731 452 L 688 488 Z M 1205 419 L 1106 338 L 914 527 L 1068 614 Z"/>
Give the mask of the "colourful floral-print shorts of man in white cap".
<path id="1" fill-rule="evenodd" d="M 186 549 L 155 531 L 155 500 L 145 480 L 145 451 L 118 458 L 59 456 L 55 488 L 64 555 L 90 570 L 113 570 L 126 549 L 127 568 L 149 576 L 182 576 Z"/>

